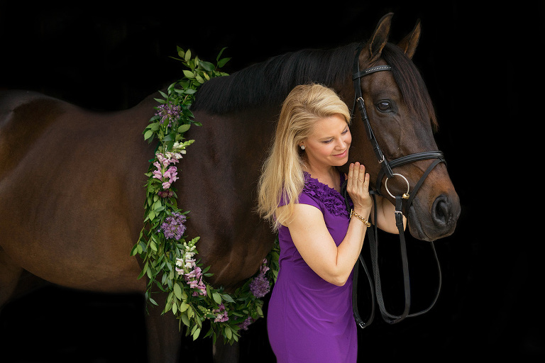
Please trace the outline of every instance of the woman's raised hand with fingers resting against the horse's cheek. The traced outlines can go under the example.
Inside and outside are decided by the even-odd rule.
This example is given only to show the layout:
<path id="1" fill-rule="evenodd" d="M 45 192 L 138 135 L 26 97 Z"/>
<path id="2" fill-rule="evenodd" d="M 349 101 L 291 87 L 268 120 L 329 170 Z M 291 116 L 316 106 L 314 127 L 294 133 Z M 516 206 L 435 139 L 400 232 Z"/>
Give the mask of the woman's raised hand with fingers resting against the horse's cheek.
<path id="1" fill-rule="evenodd" d="M 351 163 L 346 178 L 346 191 L 354 203 L 354 211 L 364 218 L 368 218 L 373 207 L 373 199 L 369 195 L 369 173 L 365 172 L 363 164 Z"/>

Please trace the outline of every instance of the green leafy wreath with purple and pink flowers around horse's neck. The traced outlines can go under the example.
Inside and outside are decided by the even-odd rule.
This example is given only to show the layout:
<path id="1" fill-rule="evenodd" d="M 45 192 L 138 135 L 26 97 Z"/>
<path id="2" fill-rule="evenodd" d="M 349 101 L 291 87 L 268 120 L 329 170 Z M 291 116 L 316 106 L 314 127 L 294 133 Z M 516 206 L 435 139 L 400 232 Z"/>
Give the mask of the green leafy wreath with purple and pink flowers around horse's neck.
<path id="1" fill-rule="evenodd" d="M 225 48 L 224 48 L 225 49 Z M 149 279 L 145 299 L 158 305 L 151 297 L 152 288 L 158 287 L 167 293 L 163 314 L 172 311 L 187 327 L 186 335 L 193 340 L 199 337 L 203 323 L 208 320 L 210 329 L 205 337 L 212 336 L 214 343 L 219 334 L 224 342 L 238 341 L 239 330 L 248 329 L 248 325 L 263 317 L 263 301 L 276 281 L 278 274 L 279 247 L 275 242 L 267 258 L 253 277 L 244 282 L 233 294 L 224 291 L 222 286 L 214 288 L 204 281 L 211 276 L 202 268 L 199 252 L 195 247 L 199 237 L 187 241 L 185 221 L 187 213 L 177 207 L 174 182 L 179 179 L 176 164 L 186 153 L 186 147 L 194 140 L 185 140 L 184 134 L 192 125 L 201 123 L 193 120 L 189 107 L 194 101 L 197 88 L 213 77 L 226 76 L 220 72 L 230 58 L 216 57 L 216 65 L 191 57 L 191 51 L 177 48 L 180 60 L 185 67 L 184 76 L 171 84 L 167 93 L 160 91 L 164 99 L 155 99 L 160 104 L 157 112 L 150 119 L 143 131 L 144 140 L 152 143 L 158 140 L 155 159 L 150 160 L 150 168 L 145 175 L 146 200 L 144 203 L 144 227 L 138 242 L 131 250 L 131 255 L 140 255 L 143 269 L 138 279 L 146 275 Z M 158 292 L 158 291 L 156 291 Z"/>

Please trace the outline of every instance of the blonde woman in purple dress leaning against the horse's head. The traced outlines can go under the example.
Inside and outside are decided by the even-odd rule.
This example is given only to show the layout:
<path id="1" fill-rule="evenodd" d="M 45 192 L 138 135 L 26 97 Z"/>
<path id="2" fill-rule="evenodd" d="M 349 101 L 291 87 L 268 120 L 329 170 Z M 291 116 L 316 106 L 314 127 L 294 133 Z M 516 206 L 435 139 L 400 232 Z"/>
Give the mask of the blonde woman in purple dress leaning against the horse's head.
<path id="1" fill-rule="evenodd" d="M 296 86 L 284 101 L 263 165 L 258 211 L 280 240 L 280 272 L 267 313 L 278 363 L 357 359 L 352 277 L 372 200 L 369 174 L 359 162 L 350 164 L 347 176 L 352 213 L 341 195 L 346 175 L 336 167 L 348 162 L 350 122 L 333 90 Z M 378 227 L 397 233 L 394 206 L 383 201 L 377 202 Z"/>

